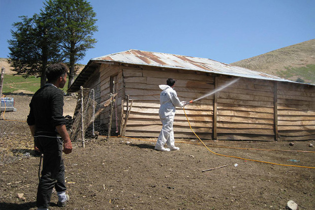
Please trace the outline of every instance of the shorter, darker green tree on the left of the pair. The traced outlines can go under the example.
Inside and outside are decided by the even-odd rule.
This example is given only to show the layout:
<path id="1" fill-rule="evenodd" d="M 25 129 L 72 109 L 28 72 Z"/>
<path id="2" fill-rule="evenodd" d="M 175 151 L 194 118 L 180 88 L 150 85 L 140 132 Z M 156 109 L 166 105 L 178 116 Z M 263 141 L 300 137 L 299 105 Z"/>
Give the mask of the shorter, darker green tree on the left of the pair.
<path id="1" fill-rule="evenodd" d="M 44 13 L 20 18 L 22 21 L 13 23 L 16 28 L 16 31 L 11 30 L 13 39 L 8 40 L 9 63 L 17 75 L 25 78 L 31 75 L 41 77 L 43 86 L 46 83 L 47 65 L 62 59 L 59 46 Z"/>

